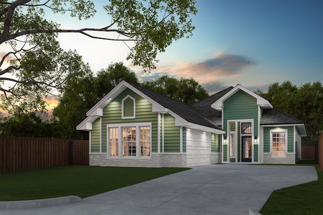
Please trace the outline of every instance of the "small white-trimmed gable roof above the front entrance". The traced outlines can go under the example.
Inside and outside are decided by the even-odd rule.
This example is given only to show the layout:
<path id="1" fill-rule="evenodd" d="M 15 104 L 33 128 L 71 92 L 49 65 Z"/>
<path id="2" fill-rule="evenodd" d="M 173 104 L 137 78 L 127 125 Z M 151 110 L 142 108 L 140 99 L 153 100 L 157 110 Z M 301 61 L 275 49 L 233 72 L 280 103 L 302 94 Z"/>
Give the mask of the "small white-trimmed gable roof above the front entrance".
<path id="1" fill-rule="evenodd" d="M 245 93 L 249 94 L 250 96 L 254 97 L 257 100 L 257 105 L 260 105 L 263 109 L 273 108 L 273 106 L 270 102 L 268 102 L 264 98 L 258 96 L 257 94 L 253 93 L 252 91 L 248 90 L 247 88 L 242 87 L 240 84 L 238 84 L 237 86 L 232 88 L 228 93 L 226 93 L 220 99 L 218 99 L 213 104 L 211 104 L 211 107 L 221 111 L 223 108 L 224 101 L 226 101 L 228 98 L 230 98 L 233 94 L 235 94 L 239 90 L 242 90 Z"/>

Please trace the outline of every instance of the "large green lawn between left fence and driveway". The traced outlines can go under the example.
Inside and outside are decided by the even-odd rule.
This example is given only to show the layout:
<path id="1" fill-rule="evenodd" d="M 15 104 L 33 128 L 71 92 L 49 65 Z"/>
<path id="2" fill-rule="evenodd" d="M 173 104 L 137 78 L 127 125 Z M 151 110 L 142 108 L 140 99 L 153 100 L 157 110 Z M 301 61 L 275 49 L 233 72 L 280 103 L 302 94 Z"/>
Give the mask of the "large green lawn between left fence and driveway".
<path id="1" fill-rule="evenodd" d="M 188 169 L 64 166 L 0 173 L 0 201 L 85 198 Z"/>

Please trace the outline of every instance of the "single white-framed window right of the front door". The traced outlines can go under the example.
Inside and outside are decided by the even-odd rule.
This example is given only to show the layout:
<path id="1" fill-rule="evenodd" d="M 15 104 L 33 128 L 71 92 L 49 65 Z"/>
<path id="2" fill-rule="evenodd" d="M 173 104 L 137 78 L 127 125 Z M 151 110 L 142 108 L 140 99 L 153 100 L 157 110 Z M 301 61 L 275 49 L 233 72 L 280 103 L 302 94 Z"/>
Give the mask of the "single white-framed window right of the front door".
<path id="1" fill-rule="evenodd" d="M 287 129 L 271 130 L 271 147 L 273 157 L 286 157 Z"/>

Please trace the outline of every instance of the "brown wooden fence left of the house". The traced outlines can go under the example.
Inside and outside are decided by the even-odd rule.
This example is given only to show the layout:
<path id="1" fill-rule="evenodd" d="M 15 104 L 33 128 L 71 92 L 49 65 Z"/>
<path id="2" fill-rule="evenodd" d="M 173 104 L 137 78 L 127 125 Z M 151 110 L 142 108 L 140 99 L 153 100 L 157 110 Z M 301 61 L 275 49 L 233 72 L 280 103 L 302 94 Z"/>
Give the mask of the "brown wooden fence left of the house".
<path id="1" fill-rule="evenodd" d="M 89 165 L 89 141 L 0 136 L 0 172 Z"/>

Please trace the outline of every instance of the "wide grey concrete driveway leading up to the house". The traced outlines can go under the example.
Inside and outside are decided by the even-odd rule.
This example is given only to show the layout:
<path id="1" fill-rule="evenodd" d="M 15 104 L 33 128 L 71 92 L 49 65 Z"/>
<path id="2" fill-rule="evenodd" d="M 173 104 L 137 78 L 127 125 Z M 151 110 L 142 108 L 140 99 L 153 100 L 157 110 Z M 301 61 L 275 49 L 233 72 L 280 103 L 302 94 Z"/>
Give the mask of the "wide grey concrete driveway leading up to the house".
<path id="1" fill-rule="evenodd" d="M 274 190 L 314 180 L 313 166 L 206 165 L 78 202 L 0 214 L 248 214 Z"/>

